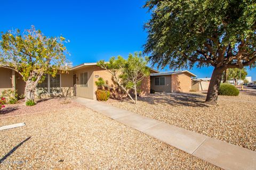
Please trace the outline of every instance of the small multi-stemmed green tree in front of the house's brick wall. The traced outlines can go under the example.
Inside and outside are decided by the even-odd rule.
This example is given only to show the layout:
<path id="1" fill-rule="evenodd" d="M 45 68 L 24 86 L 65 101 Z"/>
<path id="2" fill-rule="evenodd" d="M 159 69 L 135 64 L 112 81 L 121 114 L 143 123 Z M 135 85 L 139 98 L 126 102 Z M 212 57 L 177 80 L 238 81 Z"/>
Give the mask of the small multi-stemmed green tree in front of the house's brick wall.
<path id="1" fill-rule="evenodd" d="M 150 71 L 147 67 L 148 58 L 142 57 L 140 53 L 129 54 L 127 60 L 122 56 L 111 57 L 109 62 L 99 61 L 97 65 L 107 70 L 112 76 L 114 83 L 121 87 L 131 98 L 134 104 L 137 104 L 137 91 L 141 81 L 149 76 Z M 130 95 L 130 89 L 134 91 L 135 100 Z"/>

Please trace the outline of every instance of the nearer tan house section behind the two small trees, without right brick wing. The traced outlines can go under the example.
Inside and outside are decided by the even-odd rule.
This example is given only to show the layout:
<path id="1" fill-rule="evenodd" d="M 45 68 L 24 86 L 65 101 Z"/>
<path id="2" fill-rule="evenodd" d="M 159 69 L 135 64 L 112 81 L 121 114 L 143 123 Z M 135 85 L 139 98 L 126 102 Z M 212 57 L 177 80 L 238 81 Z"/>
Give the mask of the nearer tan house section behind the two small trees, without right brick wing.
<path id="1" fill-rule="evenodd" d="M 157 71 L 151 69 L 151 73 Z M 108 82 L 114 87 L 112 76 L 106 70 L 97 66 L 97 63 L 83 63 L 71 67 L 67 73 L 58 72 L 55 77 L 46 75 L 44 81 L 38 84 L 36 97 L 50 96 L 78 96 L 89 99 L 96 99 L 95 91 L 97 86 L 95 81 L 98 78 Z M 18 95 L 24 94 L 25 81 L 21 75 L 12 69 L 0 67 L 0 95 L 3 90 L 15 89 Z M 147 77 L 141 83 L 141 96 L 150 94 L 150 78 Z"/>

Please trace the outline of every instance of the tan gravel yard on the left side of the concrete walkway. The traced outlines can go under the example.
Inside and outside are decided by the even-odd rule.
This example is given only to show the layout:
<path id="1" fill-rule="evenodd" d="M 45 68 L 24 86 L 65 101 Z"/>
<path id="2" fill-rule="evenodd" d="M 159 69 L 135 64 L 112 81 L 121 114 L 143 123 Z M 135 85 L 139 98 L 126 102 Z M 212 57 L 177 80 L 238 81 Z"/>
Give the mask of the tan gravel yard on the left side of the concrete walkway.
<path id="1" fill-rule="evenodd" d="M 61 102 L 33 106 L 40 113 L 19 106 L 12 111 L 18 116 L 0 117 L 0 126 L 26 123 L 0 131 L 0 169 L 219 169 L 88 108 Z M 27 115 L 19 115 L 23 109 Z M 24 162 L 7 164 L 13 161 Z"/>

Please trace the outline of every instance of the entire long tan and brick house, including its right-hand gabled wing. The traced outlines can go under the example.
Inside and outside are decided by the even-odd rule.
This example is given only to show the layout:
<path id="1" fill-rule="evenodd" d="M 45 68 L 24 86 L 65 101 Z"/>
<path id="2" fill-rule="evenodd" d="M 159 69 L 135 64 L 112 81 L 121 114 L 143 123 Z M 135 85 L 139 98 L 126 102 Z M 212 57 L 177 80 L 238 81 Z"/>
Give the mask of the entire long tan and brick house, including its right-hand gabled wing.
<path id="1" fill-rule="evenodd" d="M 191 76 L 188 71 L 159 73 L 151 69 L 150 77 L 142 80 L 141 96 L 150 94 L 150 88 L 159 92 L 186 92 L 191 89 Z M 50 96 L 78 96 L 96 99 L 95 81 L 103 78 L 109 86 L 114 87 L 112 76 L 106 70 L 97 66 L 97 63 L 83 63 L 72 67 L 68 73 L 57 73 L 55 77 L 46 75 L 44 82 L 36 89 L 37 97 Z M 163 82 L 164 77 L 164 82 Z M 157 82 L 159 83 L 157 84 Z M 21 95 L 25 91 L 25 82 L 21 75 L 11 69 L 0 67 L 0 95 L 5 89 L 16 89 Z"/>

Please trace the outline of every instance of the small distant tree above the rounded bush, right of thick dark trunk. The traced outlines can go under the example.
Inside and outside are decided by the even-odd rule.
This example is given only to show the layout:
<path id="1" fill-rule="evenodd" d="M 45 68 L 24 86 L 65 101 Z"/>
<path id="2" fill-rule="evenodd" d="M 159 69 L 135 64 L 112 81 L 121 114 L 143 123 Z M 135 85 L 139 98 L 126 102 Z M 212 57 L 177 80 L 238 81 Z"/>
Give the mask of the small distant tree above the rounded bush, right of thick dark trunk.
<path id="1" fill-rule="evenodd" d="M 244 80 L 247 75 L 246 69 L 228 69 L 228 79 L 232 79 L 234 81 L 234 85 L 237 85 L 237 80 L 241 78 Z"/>

